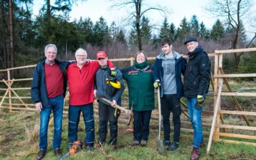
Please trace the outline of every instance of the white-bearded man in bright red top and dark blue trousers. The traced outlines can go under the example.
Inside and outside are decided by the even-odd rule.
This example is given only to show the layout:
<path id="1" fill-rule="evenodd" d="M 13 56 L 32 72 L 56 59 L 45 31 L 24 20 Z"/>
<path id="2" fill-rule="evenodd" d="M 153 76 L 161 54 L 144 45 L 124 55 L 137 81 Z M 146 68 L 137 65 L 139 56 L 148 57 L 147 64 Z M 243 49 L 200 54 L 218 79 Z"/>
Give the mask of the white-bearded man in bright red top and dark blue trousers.
<path id="1" fill-rule="evenodd" d="M 108 61 L 111 75 L 116 75 L 115 66 Z M 86 136 L 84 143 L 88 150 L 94 147 L 95 131 L 93 118 L 93 86 L 95 73 L 100 65 L 97 61 L 87 62 L 87 52 L 77 49 L 76 61 L 67 68 L 68 90 L 70 93 L 68 109 L 68 141 L 72 146 L 77 141 L 77 127 L 80 113 L 83 113 Z"/>

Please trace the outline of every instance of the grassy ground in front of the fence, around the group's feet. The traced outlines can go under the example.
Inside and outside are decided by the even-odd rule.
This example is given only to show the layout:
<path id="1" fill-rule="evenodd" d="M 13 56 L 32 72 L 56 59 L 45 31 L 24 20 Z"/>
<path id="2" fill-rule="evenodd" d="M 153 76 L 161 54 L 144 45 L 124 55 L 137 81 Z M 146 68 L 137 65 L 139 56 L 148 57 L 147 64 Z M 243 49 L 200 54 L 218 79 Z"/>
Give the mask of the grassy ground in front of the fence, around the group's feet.
<path id="1" fill-rule="evenodd" d="M 9 113 L 0 112 L 0 159 L 35 159 L 38 152 L 39 114 L 31 112 Z M 63 132 L 61 151 L 68 152 L 68 117 L 63 116 Z M 97 120 L 95 121 L 95 138 Z M 125 131 L 125 125 L 119 126 L 118 150 L 106 145 L 93 151 L 81 151 L 67 159 L 189 159 L 192 150 L 192 134 L 183 133 L 180 138 L 180 147 L 175 152 L 168 152 L 161 156 L 156 150 L 157 131 L 150 131 L 147 147 L 132 147 L 132 132 Z M 49 125 L 48 151 L 45 159 L 58 159 L 52 152 L 53 126 Z M 79 124 L 79 138 L 83 140 L 83 120 Z M 163 138 L 163 135 L 161 136 Z M 172 135 L 171 135 L 172 137 Z M 205 137 L 206 138 L 206 137 Z M 108 140 L 108 139 L 107 139 Z M 205 140 L 207 142 L 207 140 Z M 250 145 L 234 145 L 228 143 L 212 143 L 211 152 L 206 153 L 206 147 L 201 149 L 201 159 L 255 159 L 256 147 Z"/>

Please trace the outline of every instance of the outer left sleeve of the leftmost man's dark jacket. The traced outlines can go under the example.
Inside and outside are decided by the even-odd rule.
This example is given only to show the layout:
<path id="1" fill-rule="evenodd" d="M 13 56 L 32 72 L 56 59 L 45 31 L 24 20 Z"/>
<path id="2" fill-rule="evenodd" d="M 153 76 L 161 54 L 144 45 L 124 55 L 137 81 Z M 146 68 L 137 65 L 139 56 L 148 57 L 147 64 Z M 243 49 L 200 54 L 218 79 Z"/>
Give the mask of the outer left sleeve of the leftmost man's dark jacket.
<path id="1" fill-rule="evenodd" d="M 41 75 L 39 73 L 40 68 L 38 65 L 36 65 L 36 68 L 33 72 L 33 81 L 31 85 L 31 99 L 33 102 L 38 103 L 41 102 L 41 97 L 40 97 L 40 78 Z"/>

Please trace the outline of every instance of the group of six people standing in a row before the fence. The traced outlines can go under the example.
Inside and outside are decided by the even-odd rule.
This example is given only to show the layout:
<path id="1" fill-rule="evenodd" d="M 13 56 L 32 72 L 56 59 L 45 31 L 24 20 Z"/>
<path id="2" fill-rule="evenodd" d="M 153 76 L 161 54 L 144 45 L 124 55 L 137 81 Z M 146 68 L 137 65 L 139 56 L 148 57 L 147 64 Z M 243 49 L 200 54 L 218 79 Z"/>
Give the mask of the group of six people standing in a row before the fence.
<path id="1" fill-rule="evenodd" d="M 162 52 L 156 57 L 154 66 L 148 64 L 144 51 L 135 54 L 131 67 L 118 70 L 108 60 L 106 52 L 97 52 L 97 61 L 87 59 L 84 49 L 77 49 L 76 61 L 56 60 L 57 48 L 54 44 L 45 46 L 45 58 L 34 70 L 31 86 L 31 99 L 40 111 L 40 141 L 36 159 L 42 159 L 47 151 L 47 130 L 51 112 L 54 116 L 54 137 L 52 148 L 54 154 L 61 156 L 61 130 L 63 97 L 67 82 L 69 97 L 68 141 L 72 147 L 77 141 L 79 117 L 83 113 L 86 136 L 85 148 L 92 150 L 95 143 L 93 117 L 93 100 L 99 103 L 99 145 L 106 144 L 108 122 L 110 138 L 108 144 L 117 148 L 118 116 L 124 82 L 129 90 L 129 108 L 133 112 L 134 146 L 146 146 L 152 109 L 154 109 L 154 88 L 160 89 L 161 109 L 163 115 L 164 140 L 167 150 L 176 150 L 180 139 L 180 98 L 186 97 L 188 113 L 194 129 L 193 151 L 191 159 L 199 159 L 199 148 L 204 145 L 202 134 L 202 104 L 209 89 L 211 61 L 198 44 L 195 37 L 189 37 L 184 44 L 189 51 L 182 56 L 173 50 L 169 38 L 161 41 Z M 184 83 L 182 77 L 184 76 Z M 111 81 L 111 83 L 109 83 Z M 114 84 L 114 85 L 113 85 Z M 105 98 L 110 100 L 106 102 Z M 174 125 L 173 141 L 170 142 L 170 113 Z"/>

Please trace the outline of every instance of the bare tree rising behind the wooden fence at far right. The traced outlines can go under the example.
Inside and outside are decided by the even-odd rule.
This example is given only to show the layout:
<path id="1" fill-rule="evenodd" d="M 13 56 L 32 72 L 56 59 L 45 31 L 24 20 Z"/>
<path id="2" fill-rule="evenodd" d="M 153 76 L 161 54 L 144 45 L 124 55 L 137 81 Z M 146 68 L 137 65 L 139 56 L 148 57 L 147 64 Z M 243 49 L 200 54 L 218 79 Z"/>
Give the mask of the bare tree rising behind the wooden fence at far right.
<path id="1" fill-rule="evenodd" d="M 242 28 L 242 21 L 246 19 L 246 15 L 249 15 L 252 6 L 253 1 L 251 0 L 212 0 L 206 8 L 206 10 L 212 15 L 224 17 L 227 20 L 228 26 L 230 26 L 234 31 L 230 49 L 237 48 L 239 34 L 241 33 Z M 249 40 L 249 43 L 246 45 L 246 48 L 250 47 L 253 40 L 256 38 L 256 32 L 254 34 L 253 38 Z M 238 67 L 241 55 L 243 54 L 244 52 L 234 53 L 236 67 Z"/>

